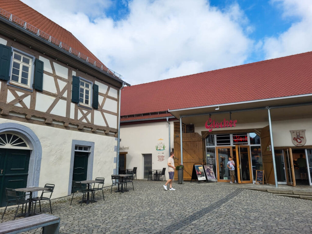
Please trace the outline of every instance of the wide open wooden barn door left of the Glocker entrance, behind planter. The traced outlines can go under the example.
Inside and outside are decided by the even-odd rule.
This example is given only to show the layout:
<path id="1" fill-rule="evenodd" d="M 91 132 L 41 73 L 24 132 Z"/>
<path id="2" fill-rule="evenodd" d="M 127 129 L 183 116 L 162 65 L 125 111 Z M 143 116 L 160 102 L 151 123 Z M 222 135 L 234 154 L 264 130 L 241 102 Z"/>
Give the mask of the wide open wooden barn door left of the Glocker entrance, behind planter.
<path id="1" fill-rule="evenodd" d="M 204 163 L 202 136 L 198 133 L 183 133 L 183 180 L 191 180 L 194 163 Z M 175 166 L 181 163 L 180 134 L 174 134 L 174 160 Z M 178 179 L 178 173 L 174 173 L 174 179 Z"/>

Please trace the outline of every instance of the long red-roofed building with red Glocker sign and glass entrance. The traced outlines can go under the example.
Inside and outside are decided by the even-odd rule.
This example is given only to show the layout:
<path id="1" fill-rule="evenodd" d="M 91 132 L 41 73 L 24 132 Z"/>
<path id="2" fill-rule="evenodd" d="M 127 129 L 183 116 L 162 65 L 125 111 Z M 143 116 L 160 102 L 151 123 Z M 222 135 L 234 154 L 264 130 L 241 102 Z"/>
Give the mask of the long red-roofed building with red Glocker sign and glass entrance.
<path id="1" fill-rule="evenodd" d="M 168 179 L 174 150 L 184 180 L 207 163 L 218 182 L 229 182 L 232 156 L 238 183 L 256 183 L 264 170 L 275 186 L 312 185 L 311 63 L 307 52 L 125 87 L 119 166 L 138 167 L 138 178 L 166 168 Z"/>

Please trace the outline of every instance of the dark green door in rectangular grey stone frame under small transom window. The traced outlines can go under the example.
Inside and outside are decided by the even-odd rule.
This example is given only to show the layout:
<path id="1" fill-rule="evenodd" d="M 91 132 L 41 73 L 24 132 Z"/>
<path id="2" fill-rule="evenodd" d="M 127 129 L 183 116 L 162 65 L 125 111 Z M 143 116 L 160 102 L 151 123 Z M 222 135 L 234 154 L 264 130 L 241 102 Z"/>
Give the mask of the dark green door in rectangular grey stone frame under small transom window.
<path id="1" fill-rule="evenodd" d="M 73 181 L 82 181 L 87 179 L 88 152 L 75 152 Z"/>

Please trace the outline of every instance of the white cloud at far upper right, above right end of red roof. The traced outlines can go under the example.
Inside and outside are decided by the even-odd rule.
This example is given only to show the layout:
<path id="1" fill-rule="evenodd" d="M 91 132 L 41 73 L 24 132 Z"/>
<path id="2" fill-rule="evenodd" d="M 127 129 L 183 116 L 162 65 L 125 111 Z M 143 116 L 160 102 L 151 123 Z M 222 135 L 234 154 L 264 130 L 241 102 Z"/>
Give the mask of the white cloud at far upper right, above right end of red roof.
<path id="1" fill-rule="evenodd" d="M 273 0 L 282 7 L 283 17 L 299 17 L 291 27 L 278 37 L 264 39 L 263 50 L 266 59 L 311 51 L 312 1 L 311 0 Z"/>

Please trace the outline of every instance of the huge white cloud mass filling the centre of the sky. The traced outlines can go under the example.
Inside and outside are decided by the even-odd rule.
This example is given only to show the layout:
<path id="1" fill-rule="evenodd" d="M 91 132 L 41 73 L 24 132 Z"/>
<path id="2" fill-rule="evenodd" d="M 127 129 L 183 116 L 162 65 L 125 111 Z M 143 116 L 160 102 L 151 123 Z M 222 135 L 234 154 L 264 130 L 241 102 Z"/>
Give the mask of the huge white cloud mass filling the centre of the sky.
<path id="1" fill-rule="evenodd" d="M 23 2 L 73 33 L 132 85 L 240 65 L 253 46 L 237 4 L 221 11 L 205 0 L 133 0 L 129 15 L 114 22 L 99 13 L 111 1 L 75 1 L 75 7 L 61 0 Z"/>

